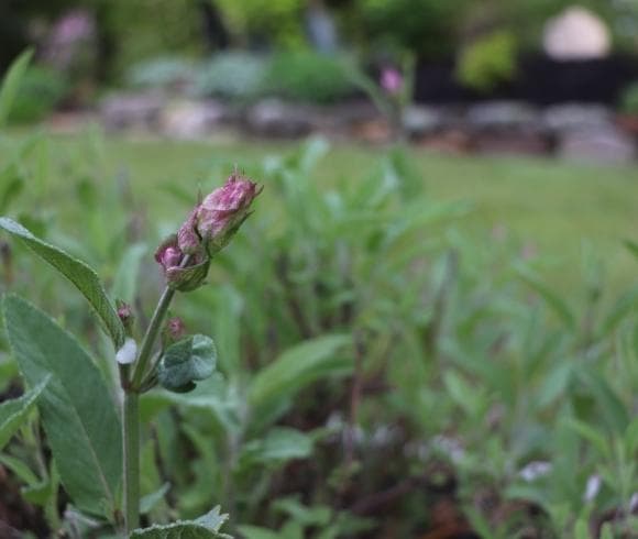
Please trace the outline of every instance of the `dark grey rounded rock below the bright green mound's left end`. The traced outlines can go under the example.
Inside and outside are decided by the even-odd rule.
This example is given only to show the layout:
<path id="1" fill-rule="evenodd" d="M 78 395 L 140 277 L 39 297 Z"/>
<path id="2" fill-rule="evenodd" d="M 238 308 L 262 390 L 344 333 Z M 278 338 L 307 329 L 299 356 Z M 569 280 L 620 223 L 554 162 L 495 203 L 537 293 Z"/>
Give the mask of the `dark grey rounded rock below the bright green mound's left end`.
<path id="1" fill-rule="evenodd" d="M 316 121 L 310 108 L 268 99 L 249 109 L 245 124 L 256 135 L 292 139 L 310 133 Z"/>

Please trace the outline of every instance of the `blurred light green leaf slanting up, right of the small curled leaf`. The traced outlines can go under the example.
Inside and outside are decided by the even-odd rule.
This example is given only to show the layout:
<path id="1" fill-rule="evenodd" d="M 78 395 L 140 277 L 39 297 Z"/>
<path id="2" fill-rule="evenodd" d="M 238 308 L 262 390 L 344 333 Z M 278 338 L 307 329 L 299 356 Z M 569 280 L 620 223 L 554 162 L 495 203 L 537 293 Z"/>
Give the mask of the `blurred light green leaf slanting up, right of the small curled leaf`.
<path id="1" fill-rule="evenodd" d="M 272 399 L 294 395 L 332 372 L 343 373 L 344 362 L 336 362 L 334 355 L 351 342 L 350 336 L 329 334 L 286 350 L 254 377 L 249 392 L 251 407 L 260 409 Z"/>

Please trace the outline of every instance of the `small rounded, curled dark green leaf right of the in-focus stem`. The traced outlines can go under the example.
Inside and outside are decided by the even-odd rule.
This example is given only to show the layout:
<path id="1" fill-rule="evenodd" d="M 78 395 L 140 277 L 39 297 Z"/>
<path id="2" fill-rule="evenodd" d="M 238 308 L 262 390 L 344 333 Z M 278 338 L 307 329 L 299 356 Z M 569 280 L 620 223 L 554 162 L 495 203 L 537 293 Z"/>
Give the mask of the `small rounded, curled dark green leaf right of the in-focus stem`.
<path id="1" fill-rule="evenodd" d="M 190 336 L 166 349 L 157 376 L 166 389 L 195 389 L 194 381 L 206 380 L 215 372 L 217 350 L 210 337 Z"/>

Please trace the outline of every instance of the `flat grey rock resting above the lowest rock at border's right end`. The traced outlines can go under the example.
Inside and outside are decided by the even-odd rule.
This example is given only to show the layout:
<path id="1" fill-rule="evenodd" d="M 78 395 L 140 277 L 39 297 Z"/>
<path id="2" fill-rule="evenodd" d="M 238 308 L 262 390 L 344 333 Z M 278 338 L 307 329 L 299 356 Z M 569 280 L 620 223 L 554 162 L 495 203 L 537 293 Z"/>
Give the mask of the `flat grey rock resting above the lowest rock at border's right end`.
<path id="1" fill-rule="evenodd" d="M 559 105 L 547 108 L 542 114 L 544 127 L 558 134 L 569 131 L 612 129 L 613 120 L 612 111 L 601 105 Z"/>

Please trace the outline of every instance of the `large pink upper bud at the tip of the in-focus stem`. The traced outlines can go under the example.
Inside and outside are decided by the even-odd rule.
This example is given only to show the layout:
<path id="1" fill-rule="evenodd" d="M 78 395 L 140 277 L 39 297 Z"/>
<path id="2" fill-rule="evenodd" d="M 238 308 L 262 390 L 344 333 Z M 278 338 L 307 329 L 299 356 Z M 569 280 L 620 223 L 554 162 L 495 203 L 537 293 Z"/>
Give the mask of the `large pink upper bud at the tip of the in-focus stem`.
<path id="1" fill-rule="evenodd" d="M 262 188 L 233 173 L 227 183 L 195 208 L 177 233 L 184 253 L 201 248 L 212 256 L 223 249 L 250 215 L 250 207 Z"/>

